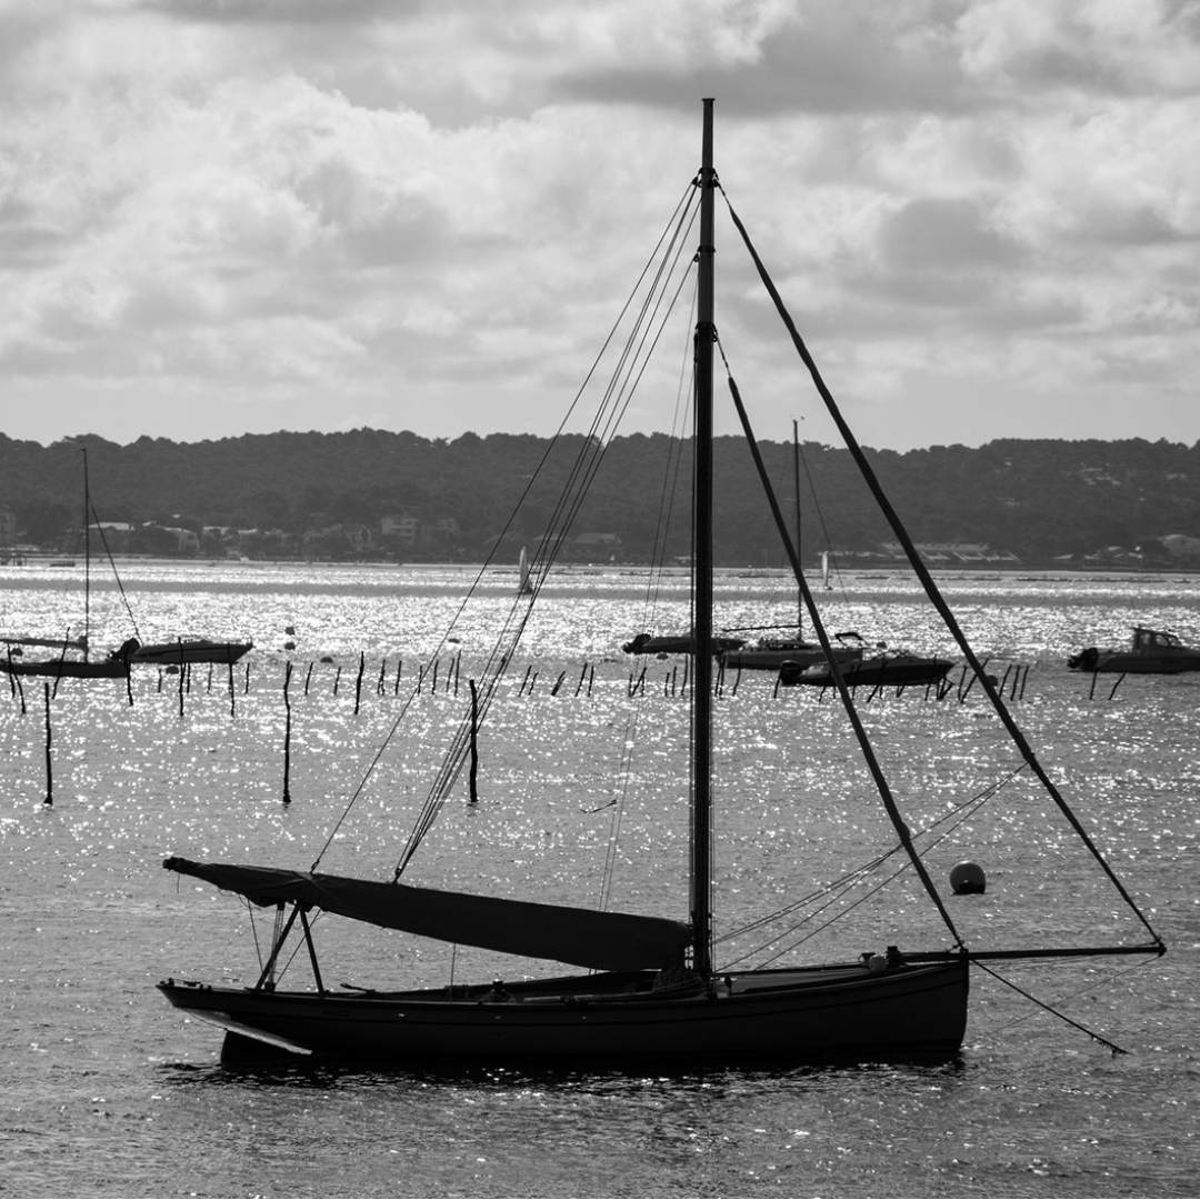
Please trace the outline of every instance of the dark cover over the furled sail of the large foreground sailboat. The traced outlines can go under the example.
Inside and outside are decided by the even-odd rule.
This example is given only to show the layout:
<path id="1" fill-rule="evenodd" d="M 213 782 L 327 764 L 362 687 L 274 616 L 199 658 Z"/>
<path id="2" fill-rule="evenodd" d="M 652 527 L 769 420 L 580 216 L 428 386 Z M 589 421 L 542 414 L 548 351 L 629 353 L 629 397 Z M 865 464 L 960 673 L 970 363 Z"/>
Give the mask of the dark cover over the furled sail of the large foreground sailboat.
<path id="1" fill-rule="evenodd" d="M 301 908 L 323 908 L 350 920 L 442 942 L 595 971 L 674 966 L 683 961 L 691 941 L 688 925 L 661 917 L 594 912 L 274 866 L 193 863 L 186 858 L 168 858 L 162 865 L 224 892 L 236 892 L 263 907 L 296 904 Z"/>

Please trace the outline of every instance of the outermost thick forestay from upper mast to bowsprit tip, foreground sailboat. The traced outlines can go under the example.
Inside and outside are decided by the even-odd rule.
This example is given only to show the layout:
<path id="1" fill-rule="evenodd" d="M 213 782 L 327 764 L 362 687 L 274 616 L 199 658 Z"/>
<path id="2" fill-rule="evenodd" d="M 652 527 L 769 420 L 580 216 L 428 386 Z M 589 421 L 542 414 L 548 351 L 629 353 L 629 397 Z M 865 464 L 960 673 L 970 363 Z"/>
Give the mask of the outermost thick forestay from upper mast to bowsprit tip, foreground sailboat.
<path id="1" fill-rule="evenodd" d="M 718 184 L 716 186 L 720 187 L 720 184 Z M 950 612 L 949 606 L 942 598 L 942 594 L 938 590 L 937 584 L 934 582 L 932 575 L 930 575 L 929 569 L 925 566 L 925 563 L 923 562 L 920 554 L 917 552 L 917 547 L 913 545 L 912 539 L 908 536 L 907 529 L 905 529 L 905 527 L 901 524 L 899 516 L 896 516 L 896 512 L 892 508 L 892 504 L 888 500 L 887 496 L 884 494 L 883 488 L 880 486 L 880 482 L 875 476 L 875 472 L 871 469 L 870 462 L 866 460 L 866 456 L 863 454 L 862 446 L 858 444 L 858 439 L 854 437 L 850 426 L 846 425 L 846 421 L 842 418 L 840 409 L 838 408 L 838 403 L 833 398 L 833 392 L 830 392 L 828 386 L 826 386 L 826 382 L 822 378 L 820 370 L 817 368 L 816 361 L 809 353 L 809 348 L 804 343 L 804 340 L 800 337 L 799 331 L 797 330 L 796 324 L 792 320 L 791 313 L 784 305 L 782 298 L 780 296 L 778 289 L 775 288 L 774 282 L 772 281 L 769 274 L 767 272 L 766 265 L 758 257 L 758 252 L 755 250 L 752 242 L 750 241 L 750 235 L 746 233 L 745 226 L 742 224 L 740 218 L 733 211 L 733 205 L 730 203 L 730 198 L 728 196 L 725 194 L 724 190 L 721 190 L 721 196 L 725 198 L 725 203 L 726 206 L 728 208 L 730 216 L 732 217 L 734 226 L 737 226 L 738 232 L 742 234 L 742 240 L 745 244 L 745 247 L 750 253 L 750 257 L 754 259 L 755 266 L 757 268 L 758 271 L 758 277 L 762 280 L 763 286 L 767 288 L 767 292 L 775 305 L 775 310 L 779 313 L 780 319 L 784 322 L 785 328 L 791 335 L 792 344 L 794 346 L 796 352 L 799 354 L 802 361 L 808 367 L 809 374 L 812 378 L 812 383 L 816 386 L 817 391 L 821 394 L 821 398 L 824 401 L 826 409 L 828 410 L 829 415 L 834 420 L 834 424 L 841 432 L 842 439 L 846 443 L 846 448 L 850 450 L 851 456 L 854 458 L 854 462 L 858 466 L 863 480 L 866 482 L 866 486 L 870 488 L 871 494 L 875 497 L 875 502 L 880 505 L 880 510 L 883 512 L 884 517 L 888 521 L 888 524 L 892 527 L 892 532 L 895 534 L 900 545 L 904 547 L 905 554 L 907 556 L 908 562 L 912 564 L 912 569 L 917 574 L 917 578 L 920 580 L 922 586 L 925 589 L 925 594 L 930 599 L 930 602 L 934 605 L 934 607 L 942 617 L 942 620 L 946 623 L 946 628 L 953 635 L 954 640 L 959 643 L 959 648 L 962 650 L 967 662 L 971 665 L 971 670 L 978 678 L 979 685 L 984 689 L 984 692 L 991 701 L 992 708 L 995 708 L 997 715 L 1000 716 L 1001 721 L 1004 725 L 1004 728 L 1008 730 L 1009 737 L 1012 737 L 1014 744 L 1020 750 L 1025 761 L 1033 769 L 1034 774 L 1038 776 L 1039 780 L 1042 780 L 1042 784 L 1045 787 L 1046 793 L 1058 806 L 1058 811 L 1063 815 L 1063 817 L 1066 817 L 1070 827 L 1075 830 L 1075 834 L 1088 848 L 1088 851 L 1096 858 L 1096 860 L 1100 864 L 1102 870 L 1105 872 L 1105 875 L 1108 875 L 1109 881 L 1116 888 L 1117 893 L 1121 895 L 1124 902 L 1129 906 L 1129 908 L 1134 913 L 1136 913 L 1138 919 L 1146 928 L 1146 931 L 1151 935 L 1151 937 L 1154 938 L 1154 941 L 1159 946 L 1162 946 L 1163 944 L 1162 937 L 1156 932 L 1154 928 L 1150 924 L 1150 920 L 1147 919 L 1145 913 L 1142 913 L 1141 908 L 1139 908 L 1138 905 L 1134 902 L 1133 896 L 1129 895 L 1129 892 L 1126 889 L 1126 886 L 1117 877 L 1116 871 L 1114 871 L 1112 868 L 1109 865 L 1108 860 L 1100 853 L 1099 847 L 1088 836 L 1087 830 L 1082 827 L 1079 818 L 1072 810 L 1070 805 L 1067 804 L 1067 800 L 1063 798 L 1058 788 L 1055 786 L 1054 780 L 1051 780 L 1050 776 L 1046 774 L 1042 763 L 1034 755 L 1033 748 L 1030 745 L 1025 734 L 1021 732 L 1016 721 L 1013 719 L 1012 713 L 1009 713 L 1008 706 L 1001 697 L 1000 691 L 996 689 L 996 685 L 991 683 L 991 680 L 988 677 L 988 673 L 983 668 L 983 665 L 979 662 L 978 658 L 976 658 L 976 653 L 971 648 L 971 643 L 967 641 L 966 635 L 959 626 L 959 623 L 955 619 L 954 613 Z M 834 674 L 835 677 L 838 676 L 836 668 L 834 670 Z"/>

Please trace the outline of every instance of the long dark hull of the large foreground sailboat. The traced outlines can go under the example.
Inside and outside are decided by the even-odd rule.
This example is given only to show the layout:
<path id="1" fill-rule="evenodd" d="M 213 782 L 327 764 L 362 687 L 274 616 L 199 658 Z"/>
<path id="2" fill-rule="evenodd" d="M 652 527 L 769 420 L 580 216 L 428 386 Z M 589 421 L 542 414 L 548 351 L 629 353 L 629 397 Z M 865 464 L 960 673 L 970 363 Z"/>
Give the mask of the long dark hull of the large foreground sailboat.
<path id="1" fill-rule="evenodd" d="M 800 1062 L 952 1055 L 966 1030 L 965 960 L 722 977 L 712 995 L 654 998 L 444 991 L 320 995 L 166 980 L 176 1008 L 300 1054 L 373 1062 Z M 516 992 L 517 989 L 514 989 Z"/>

